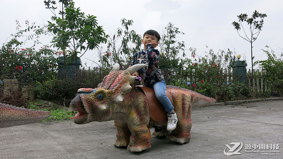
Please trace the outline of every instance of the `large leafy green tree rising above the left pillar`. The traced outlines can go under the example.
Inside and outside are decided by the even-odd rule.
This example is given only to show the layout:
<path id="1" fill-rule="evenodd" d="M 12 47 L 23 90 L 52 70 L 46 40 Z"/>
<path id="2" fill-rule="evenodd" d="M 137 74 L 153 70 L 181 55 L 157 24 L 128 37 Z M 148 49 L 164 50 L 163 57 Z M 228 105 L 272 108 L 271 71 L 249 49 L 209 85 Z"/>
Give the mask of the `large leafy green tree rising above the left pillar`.
<path id="1" fill-rule="evenodd" d="M 48 30 L 54 34 L 51 46 L 61 50 L 67 50 L 67 60 L 73 61 L 82 57 L 87 50 L 98 48 L 100 43 L 106 43 L 108 35 L 104 33 L 102 26 L 98 26 L 96 17 L 85 15 L 79 8 L 74 7 L 72 0 L 59 0 L 64 10 L 59 11 L 61 17 L 56 16 L 54 7 L 56 2 L 45 1 L 46 8 L 50 9 L 54 16 L 51 19 L 54 23 L 48 21 Z M 51 5 L 50 5 L 51 3 Z M 65 52 L 65 51 L 63 51 Z M 78 57 L 78 54 L 81 54 Z M 76 63 L 77 65 L 77 63 Z"/>

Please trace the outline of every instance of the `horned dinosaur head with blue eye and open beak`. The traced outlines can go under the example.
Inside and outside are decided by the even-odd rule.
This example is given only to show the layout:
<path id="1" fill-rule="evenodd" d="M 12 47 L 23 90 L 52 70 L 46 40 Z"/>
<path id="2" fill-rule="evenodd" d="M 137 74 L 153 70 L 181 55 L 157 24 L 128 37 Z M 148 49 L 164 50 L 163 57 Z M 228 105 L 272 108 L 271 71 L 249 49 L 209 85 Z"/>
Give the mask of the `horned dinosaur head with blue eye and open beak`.
<path id="1" fill-rule="evenodd" d="M 78 113 L 70 119 L 76 124 L 112 120 L 112 107 L 122 102 L 124 95 L 132 90 L 130 84 L 136 78 L 132 74 L 143 67 L 147 65 L 137 64 L 126 70 L 119 70 L 119 64 L 115 64 L 97 88 L 80 88 L 69 107 L 69 111 Z"/>

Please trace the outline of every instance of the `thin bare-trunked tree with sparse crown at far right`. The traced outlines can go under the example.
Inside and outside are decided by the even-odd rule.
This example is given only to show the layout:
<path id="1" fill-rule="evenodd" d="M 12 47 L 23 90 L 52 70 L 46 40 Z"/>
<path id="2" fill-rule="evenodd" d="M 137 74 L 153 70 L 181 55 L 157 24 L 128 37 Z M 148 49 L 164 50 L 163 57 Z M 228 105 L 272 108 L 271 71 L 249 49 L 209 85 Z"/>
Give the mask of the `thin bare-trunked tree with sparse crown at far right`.
<path id="1" fill-rule="evenodd" d="M 250 18 L 248 18 L 247 14 L 240 14 L 237 17 L 240 23 L 234 21 L 232 25 L 235 27 L 234 29 L 237 29 L 237 32 L 241 38 L 250 42 L 250 54 L 251 54 L 251 62 L 252 62 L 252 70 L 253 70 L 253 59 L 254 59 L 253 42 L 257 40 L 257 37 L 260 34 L 260 31 L 262 30 L 261 28 L 263 27 L 263 18 L 267 17 L 267 15 L 259 13 L 257 12 L 257 10 L 255 10 Z M 260 19 L 260 21 L 258 19 Z M 244 21 L 247 22 L 248 26 L 250 26 L 250 35 L 249 35 L 250 37 L 248 37 L 247 33 L 245 32 L 242 26 L 242 22 Z M 241 27 L 243 28 L 246 37 L 240 35 L 239 31 L 241 30 Z M 252 79 L 253 79 L 253 74 L 252 74 Z"/>

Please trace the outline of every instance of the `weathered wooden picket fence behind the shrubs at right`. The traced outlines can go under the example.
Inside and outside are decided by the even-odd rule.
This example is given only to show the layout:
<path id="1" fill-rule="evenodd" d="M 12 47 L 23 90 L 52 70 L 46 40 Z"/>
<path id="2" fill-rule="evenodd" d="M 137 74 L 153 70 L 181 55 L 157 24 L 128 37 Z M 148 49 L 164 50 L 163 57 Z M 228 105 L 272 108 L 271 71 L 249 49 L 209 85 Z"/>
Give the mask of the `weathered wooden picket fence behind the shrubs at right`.
<path id="1" fill-rule="evenodd" d="M 252 74 L 253 74 L 253 78 L 252 78 Z M 237 80 L 239 77 L 235 77 L 232 75 L 231 70 L 226 70 L 224 71 L 224 76 L 226 76 L 226 79 L 224 78 L 223 83 L 226 85 L 229 85 L 231 82 Z M 222 76 L 223 77 L 223 76 Z M 256 91 L 267 91 L 268 88 L 271 88 L 271 86 L 268 86 L 268 83 L 266 81 L 266 72 L 263 71 L 263 69 L 261 69 L 261 71 L 259 69 L 253 69 L 253 72 L 251 72 L 251 70 L 249 69 L 247 72 L 246 77 L 246 86 L 247 87 L 252 87 L 253 90 Z M 197 79 L 194 74 L 190 74 L 190 75 L 185 75 L 183 74 L 183 68 L 178 69 L 176 68 L 175 70 L 170 70 L 170 75 L 169 75 L 169 79 L 170 82 L 172 83 L 173 81 L 179 81 L 180 83 L 188 83 L 191 85 L 200 82 L 200 80 L 206 80 L 209 81 L 207 79 Z M 273 92 L 275 92 L 275 90 L 273 89 Z"/>

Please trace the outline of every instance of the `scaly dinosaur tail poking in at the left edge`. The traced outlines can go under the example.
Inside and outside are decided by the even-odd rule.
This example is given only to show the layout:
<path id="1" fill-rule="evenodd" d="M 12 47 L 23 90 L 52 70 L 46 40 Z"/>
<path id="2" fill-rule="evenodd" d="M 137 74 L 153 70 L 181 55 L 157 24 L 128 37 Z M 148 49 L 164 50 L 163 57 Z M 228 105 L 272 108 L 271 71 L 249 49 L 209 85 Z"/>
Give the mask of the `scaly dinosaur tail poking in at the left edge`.
<path id="1" fill-rule="evenodd" d="M 0 128 L 30 124 L 48 118 L 50 112 L 19 108 L 0 103 Z"/>

